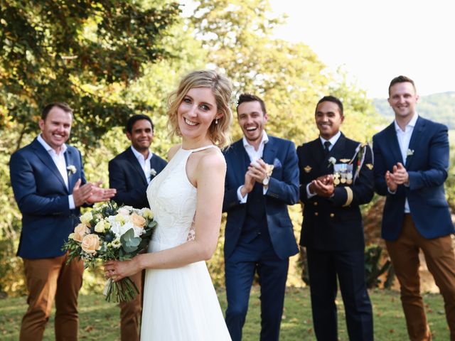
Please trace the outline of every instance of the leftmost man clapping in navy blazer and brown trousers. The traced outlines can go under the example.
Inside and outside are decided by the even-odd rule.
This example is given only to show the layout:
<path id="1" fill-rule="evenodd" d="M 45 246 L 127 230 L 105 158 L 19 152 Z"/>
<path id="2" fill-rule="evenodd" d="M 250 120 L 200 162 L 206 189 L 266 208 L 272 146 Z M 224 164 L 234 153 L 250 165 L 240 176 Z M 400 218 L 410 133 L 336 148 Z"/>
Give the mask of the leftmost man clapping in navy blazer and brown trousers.
<path id="1" fill-rule="evenodd" d="M 87 183 L 80 152 L 65 144 L 73 109 L 63 102 L 43 108 L 41 134 L 11 156 L 14 197 L 22 213 L 18 256 L 23 259 L 28 310 L 20 340 L 42 340 L 55 300 L 55 340 L 77 340 L 77 295 L 82 286 L 82 261 L 66 264 L 62 251 L 73 232 L 79 207 L 109 200 L 115 190 Z"/>

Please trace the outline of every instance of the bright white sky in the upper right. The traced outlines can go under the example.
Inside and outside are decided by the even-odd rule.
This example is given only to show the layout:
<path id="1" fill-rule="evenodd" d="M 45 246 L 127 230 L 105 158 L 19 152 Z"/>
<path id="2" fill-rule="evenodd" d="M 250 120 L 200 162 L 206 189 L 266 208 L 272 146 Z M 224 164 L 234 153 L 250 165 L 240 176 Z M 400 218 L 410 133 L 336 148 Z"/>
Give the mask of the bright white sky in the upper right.
<path id="1" fill-rule="evenodd" d="M 455 91 L 455 1 L 270 0 L 286 13 L 278 38 L 309 45 L 332 70 L 343 66 L 369 97 L 393 77 L 421 95 Z"/>

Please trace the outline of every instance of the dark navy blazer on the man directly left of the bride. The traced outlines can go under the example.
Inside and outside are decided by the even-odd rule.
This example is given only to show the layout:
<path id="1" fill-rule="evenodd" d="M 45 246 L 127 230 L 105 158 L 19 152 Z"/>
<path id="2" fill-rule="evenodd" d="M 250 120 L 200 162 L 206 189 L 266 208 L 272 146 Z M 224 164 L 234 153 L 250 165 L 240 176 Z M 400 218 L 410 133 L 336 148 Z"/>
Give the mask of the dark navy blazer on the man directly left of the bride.
<path id="1" fill-rule="evenodd" d="M 150 169 L 154 169 L 156 174 L 161 172 L 166 164 L 167 162 L 156 154 L 150 159 Z M 155 176 L 152 175 L 151 179 Z M 149 207 L 147 186 L 144 171 L 131 147 L 109 161 L 109 187 L 117 190 L 112 198 L 117 204 L 135 208 Z"/>

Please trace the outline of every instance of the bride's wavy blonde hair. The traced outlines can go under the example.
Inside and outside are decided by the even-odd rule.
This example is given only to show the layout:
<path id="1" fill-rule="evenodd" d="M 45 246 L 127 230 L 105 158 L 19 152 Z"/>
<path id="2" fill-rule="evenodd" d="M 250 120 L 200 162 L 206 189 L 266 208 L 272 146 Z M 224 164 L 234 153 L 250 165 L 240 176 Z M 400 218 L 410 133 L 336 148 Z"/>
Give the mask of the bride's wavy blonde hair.
<path id="1" fill-rule="evenodd" d="M 169 95 L 168 125 L 171 129 L 171 135 L 181 136 L 181 131 L 178 127 L 177 109 L 188 91 L 194 87 L 209 87 L 212 90 L 217 112 L 223 114 L 223 116 L 218 119 L 218 124 L 215 124 L 215 119 L 213 119 L 208 128 L 208 134 L 210 140 L 216 146 L 220 148 L 228 146 L 230 144 L 230 126 L 232 124 L 232 112 L 229 106 L 232 89 L 230 80 L 214 70 L 199 70 L 188 73 L 180 81 L 178 89 Z"/>

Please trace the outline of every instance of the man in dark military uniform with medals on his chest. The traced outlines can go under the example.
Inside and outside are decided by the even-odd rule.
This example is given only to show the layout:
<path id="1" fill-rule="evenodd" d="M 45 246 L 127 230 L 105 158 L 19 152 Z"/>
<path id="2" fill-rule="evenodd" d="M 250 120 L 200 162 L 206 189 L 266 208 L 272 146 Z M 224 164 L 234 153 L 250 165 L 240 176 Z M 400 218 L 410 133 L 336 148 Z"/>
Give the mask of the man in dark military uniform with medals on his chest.
<path id="1" fill-rule="evenodd" d="M 304 203 L 300 244 L 308 259 L 314 332 L 318 340 L 338 340 L 338 278 L 349 340 L 373 340 L 359 208 L 373 197 L 372 152 L 341 133 L 338 98 L 321 98 L 315 120 L 319 137 L 297 148 Z"/>

